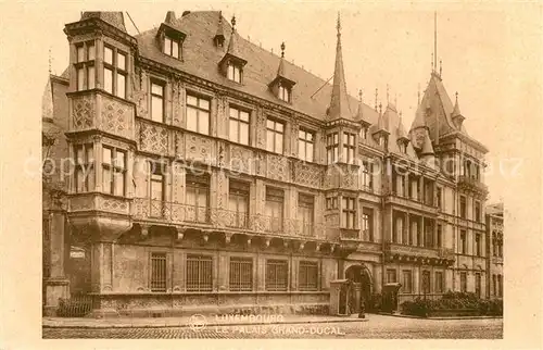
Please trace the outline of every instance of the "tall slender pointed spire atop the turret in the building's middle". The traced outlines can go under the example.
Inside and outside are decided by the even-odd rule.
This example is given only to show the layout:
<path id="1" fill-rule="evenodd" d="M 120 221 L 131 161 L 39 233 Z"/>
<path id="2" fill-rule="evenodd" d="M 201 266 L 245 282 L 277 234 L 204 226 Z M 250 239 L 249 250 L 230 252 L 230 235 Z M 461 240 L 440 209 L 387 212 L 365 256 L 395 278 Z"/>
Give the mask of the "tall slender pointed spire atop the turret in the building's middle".
<path id="1" fill-rule="evenodd" d="M 333 70 L 332 95 L 330 98 L 330 108 L 328 109 L 328 117 L 351 118 L 352 112 L 349 104 L 349 96 L 346 93 L 345 72 L 343 70 L 343 55 L 341 50 L 341 20 L 338 12 L 338 42 L 336 46 L 336 66 Z"/>

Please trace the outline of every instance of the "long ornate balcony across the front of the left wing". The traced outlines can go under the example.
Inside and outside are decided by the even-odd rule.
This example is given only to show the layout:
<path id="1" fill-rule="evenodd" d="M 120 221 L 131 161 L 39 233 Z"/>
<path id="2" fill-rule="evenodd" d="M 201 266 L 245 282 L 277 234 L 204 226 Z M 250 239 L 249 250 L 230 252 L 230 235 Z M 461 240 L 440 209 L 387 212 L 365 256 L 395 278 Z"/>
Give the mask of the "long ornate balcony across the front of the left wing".
<path id="1" fill-rule="evenodd" d="M 298 218 L 279 218 L 216 208 L 136 198 L 131 217 L 149 224 L 173 224 L 188 228 L 231 233 L 264 234 L 285 238 L 325 239 L 333 229 Z"/>

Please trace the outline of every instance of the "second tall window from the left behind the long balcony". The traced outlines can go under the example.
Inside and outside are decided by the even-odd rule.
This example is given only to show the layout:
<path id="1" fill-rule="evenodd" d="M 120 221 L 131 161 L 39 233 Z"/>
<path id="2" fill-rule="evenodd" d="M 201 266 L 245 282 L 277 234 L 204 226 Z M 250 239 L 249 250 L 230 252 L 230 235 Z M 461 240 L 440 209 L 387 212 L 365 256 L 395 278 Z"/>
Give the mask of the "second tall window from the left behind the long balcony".
<path id="1" fill-rule="evenodd" d="M 186 220 L 207 223 L 210 218 L 210 176 L 205 175 L 186 175 Z"/>

